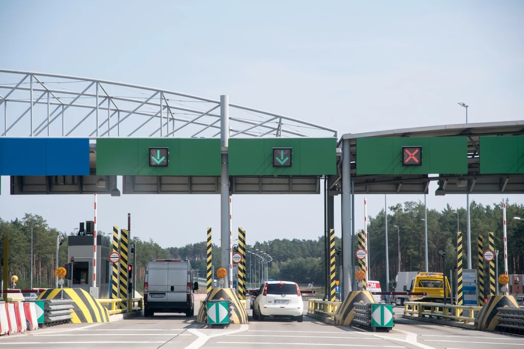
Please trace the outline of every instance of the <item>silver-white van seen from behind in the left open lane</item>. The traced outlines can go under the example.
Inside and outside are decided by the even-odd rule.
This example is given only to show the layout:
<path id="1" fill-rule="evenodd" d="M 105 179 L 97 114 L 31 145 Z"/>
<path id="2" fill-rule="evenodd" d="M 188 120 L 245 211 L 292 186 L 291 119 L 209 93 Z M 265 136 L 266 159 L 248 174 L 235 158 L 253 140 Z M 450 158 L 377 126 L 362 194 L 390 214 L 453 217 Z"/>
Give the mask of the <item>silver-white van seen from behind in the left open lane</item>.
<path id="1" fill-rule="evenodd" d="M 189 260 L 149 259 L 144 281 L 144 316 L 155 313 L 194 315 L 193 271 Z"/>

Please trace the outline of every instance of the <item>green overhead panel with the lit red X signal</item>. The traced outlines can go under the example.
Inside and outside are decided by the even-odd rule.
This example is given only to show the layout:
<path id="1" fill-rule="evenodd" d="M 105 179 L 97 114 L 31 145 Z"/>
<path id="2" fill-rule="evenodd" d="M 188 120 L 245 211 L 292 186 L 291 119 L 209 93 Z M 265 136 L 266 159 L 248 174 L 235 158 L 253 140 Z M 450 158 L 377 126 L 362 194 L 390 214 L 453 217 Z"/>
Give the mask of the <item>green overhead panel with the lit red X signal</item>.
<path id="1" fill-rule="evenodd" d="M 467 138 L 357 138 L 356 167 L 357 174 L 467 174 Z"/>

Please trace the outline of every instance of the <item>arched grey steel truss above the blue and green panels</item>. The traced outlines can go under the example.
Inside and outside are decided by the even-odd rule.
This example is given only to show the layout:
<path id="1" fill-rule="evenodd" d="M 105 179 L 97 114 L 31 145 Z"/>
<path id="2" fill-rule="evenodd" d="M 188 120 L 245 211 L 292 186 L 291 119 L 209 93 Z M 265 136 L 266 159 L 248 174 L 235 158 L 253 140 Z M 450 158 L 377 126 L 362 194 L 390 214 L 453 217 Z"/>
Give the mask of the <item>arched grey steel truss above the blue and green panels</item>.
<path id="1" fill-rule="evenodd" d="M 337 131 L 238 104 L 230 137 L 337 137 Z M 219 110 L 217 110 L 219 108 Z M 128 83 L 0 70 L 2 136 L 217 137 L 220 101 Z"/>

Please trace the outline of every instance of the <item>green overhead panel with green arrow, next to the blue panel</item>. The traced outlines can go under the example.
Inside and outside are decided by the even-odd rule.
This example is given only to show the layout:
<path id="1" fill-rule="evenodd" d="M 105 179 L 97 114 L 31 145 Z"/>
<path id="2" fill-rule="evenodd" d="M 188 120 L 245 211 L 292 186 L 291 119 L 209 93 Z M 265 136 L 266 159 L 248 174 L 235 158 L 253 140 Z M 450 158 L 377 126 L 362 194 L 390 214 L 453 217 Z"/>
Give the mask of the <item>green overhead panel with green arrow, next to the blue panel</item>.
<path id="1" fill-rule="evenodd" d="M 220 139 L 99 138 L 99 176 L 220 176 Z"/>

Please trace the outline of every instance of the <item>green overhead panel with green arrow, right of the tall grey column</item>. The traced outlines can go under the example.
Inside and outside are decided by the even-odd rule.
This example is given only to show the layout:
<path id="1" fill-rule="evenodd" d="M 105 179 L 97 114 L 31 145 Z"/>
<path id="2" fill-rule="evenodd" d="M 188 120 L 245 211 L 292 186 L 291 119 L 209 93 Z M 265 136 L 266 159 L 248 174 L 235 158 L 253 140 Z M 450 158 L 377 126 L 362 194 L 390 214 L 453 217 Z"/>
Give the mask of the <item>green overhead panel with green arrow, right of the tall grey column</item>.
<path id="1" fill-rule="evenodd" d="M 336 174 L 335 138 L 232 138 L 230 176 Z"/>

